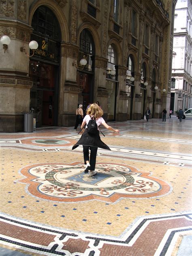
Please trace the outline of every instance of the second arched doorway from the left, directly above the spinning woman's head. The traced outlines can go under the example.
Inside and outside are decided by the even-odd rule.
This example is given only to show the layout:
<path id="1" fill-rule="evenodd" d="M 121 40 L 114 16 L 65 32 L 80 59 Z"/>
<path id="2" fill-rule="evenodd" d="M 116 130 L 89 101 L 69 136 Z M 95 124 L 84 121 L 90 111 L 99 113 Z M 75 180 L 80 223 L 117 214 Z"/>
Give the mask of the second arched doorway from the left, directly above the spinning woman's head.
<path id="1" fill-rule="evenodd" d="M 83 112 L 85 114 L 89 103 L 93 103 L 94 87 L 95 45 L 89 30 L 82 30 L 79 39 L 79 47 L 77 83 L 80 87 L 80 94 L 78 97 L 78 104 L 83 105 Z M 80 64 L 82 58 L 87 60 L 87 64 L 84 67 Z"/>

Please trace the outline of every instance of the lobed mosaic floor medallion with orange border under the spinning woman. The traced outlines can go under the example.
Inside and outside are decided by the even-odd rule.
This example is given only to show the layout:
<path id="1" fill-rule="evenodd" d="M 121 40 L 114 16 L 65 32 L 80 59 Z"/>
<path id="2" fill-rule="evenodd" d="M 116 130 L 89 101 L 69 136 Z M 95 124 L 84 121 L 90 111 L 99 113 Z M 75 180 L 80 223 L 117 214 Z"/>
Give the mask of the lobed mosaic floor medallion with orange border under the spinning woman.
<path id="1" fill-rule="evenodd" d="M 54 201 L 93 198 L 116 201 L 119 197 L 151 197 L 169 191 L 163 181 L 149 178 L 149 173 L 138 172 L 130 166 L 100 163 L 96 164 L 96 170 L 97 175 L 90 177 L 79 163 L 74 166 L 41 164 L 23 168 L 21 173 L 28 178 L 21 181 L 30 183 L 31 194 Z"/>

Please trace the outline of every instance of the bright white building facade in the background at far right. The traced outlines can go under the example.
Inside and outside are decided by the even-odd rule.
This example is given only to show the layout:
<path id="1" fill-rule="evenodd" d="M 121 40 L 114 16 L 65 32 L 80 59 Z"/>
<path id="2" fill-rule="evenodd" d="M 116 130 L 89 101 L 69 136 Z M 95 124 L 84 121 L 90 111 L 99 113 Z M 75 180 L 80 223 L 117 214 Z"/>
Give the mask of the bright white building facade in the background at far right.
<path id="1" fill-rule="evenodd" d="M 192 108 L 192 3 L 178 0 L 175 7 L 173 64 L 171 83 L 172 111 Z"/>

